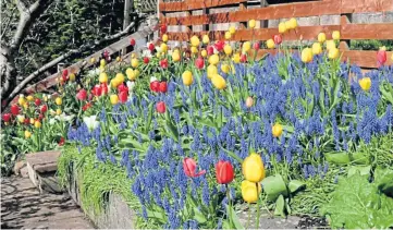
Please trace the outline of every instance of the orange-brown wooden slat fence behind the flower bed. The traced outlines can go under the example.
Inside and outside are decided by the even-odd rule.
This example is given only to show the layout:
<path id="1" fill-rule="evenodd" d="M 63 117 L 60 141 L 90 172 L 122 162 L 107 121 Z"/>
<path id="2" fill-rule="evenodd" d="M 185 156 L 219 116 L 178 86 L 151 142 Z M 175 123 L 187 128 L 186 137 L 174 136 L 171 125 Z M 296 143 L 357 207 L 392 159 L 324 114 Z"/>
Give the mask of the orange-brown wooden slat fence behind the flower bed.
<path id="1" fill-rule="evenodd" d="M 320 32 L 327 34 L 331 39 L 333 31 L 341 32 L 340 50 L 343 52 L 343 60 L 349 60 L 361 68 L 377 68 L 377 52 L 364 50 L 349 50 L 348 41 L 356 39 L 393 39 L 393 23 L 354 24 L 352 14 L 392 12 L 393 0 L 319 0 L 297 3 L 268 5 L 267 0 L 260 0 L 260 7 L 247 8 L 245 0 L 184 0 L 180 2 L 159 2 L 159 16 L 161 23 L 171 26 L 186 26 L 186 32 L 168 33 L 170 40 L 185 41 L 193 35 L 208 34 L 210 39 L 221 39 L 224 36 L 222 31 L 212 31 L 212 24 L 236 23 L 237 31 L 232 37 L 233 40 L 267 40 L 278 34 L 278 28 L 268 28 L 267 20 L 280 20 L 288 17 L 307 17 L 322 15 L 340 15 L 339 25 L 315 25 L 299 26 L 295 31 L 285 33 L 285 40 L 312 40 Z M 212 9 L 236 7 L 236 11 L 223 13 L 209 13 Z M 193 15 L 193 11 L 201 11 L 200 15 Z M 185 12 L 186 16 L 168 16 L 168 13 Z M 261 21 L 260 28 L 254 32 L 247 28 L 247 21 Z M 263 23 L 265 22 L 265 23 Z M 201 25 L 201 32 L 193 32 L 192 26 Z M 274 52 L 275 50 L 259 50 L 258 55 Z M 392 56 L 388 52 L 388 57 Z M 392 64 L 389 60 L 388 64 Z"/>

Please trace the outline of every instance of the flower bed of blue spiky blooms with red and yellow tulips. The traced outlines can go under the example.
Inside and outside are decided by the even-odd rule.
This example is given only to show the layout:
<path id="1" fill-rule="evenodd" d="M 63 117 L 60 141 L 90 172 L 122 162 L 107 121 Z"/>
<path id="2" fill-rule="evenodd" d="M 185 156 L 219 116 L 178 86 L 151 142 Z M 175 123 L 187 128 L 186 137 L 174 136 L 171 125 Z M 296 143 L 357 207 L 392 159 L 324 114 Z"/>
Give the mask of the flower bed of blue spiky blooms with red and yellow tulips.
<path id="1" fill-rule="evenodd" d="M 262 210 L 393 227 L 393 66 L 383 48 L 381 66 L 363 73 L 341 63 L 337 32 L 293 53 L 278 33 L 263 45 L 277 55 L 260 60 L 258 41 L 228 43 L 234 33 L 194 36 L 186 50 L 169 50 L 163 35 L 150 57 L 107 65 L 103 55 L 96 71 L 64 72 L 54 98 L 12 106 L 3 132 L 23 145 L 10 146 L 65 141 L 63 184 L 76 171 L 82 206 L 95 214 L 116 192 L 137 228 L 262 228 Z"/>

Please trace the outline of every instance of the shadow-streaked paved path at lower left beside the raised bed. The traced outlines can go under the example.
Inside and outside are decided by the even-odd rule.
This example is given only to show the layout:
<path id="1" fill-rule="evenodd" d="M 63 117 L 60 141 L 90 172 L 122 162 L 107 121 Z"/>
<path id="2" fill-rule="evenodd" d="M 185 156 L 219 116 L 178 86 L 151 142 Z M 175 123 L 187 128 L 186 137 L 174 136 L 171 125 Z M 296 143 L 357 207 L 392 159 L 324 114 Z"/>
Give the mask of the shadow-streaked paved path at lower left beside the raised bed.
<path id="1" fill-rule="evenodd" d="M 1 229 L 94 229 L 67 194 L 40 194 L 28 178 L 1 178 Z"/>

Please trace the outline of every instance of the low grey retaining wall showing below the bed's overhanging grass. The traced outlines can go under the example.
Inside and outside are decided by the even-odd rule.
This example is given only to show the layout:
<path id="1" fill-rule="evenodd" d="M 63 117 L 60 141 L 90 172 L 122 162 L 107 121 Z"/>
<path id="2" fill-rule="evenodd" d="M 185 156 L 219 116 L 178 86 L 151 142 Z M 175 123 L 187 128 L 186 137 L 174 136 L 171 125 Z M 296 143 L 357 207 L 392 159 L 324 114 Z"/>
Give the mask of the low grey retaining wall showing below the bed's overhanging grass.
<path id="1" fill-rule="evenodd" d="M 75 203 L 82 206 L 79 180 L 75 167 L 70 167 L 73 170 L 69 174 L 67 190 Z M 108 195 L 108 202 L 102 207 L 101 214 L 95 215 L 93 209 L 88 209 L 88 207 L 85 207 L 84 211 L 91 222 L 100 229 L 135 229 L 136 214 L 130 209 L 127 203 L 119 194 L 110 193 Z"/>

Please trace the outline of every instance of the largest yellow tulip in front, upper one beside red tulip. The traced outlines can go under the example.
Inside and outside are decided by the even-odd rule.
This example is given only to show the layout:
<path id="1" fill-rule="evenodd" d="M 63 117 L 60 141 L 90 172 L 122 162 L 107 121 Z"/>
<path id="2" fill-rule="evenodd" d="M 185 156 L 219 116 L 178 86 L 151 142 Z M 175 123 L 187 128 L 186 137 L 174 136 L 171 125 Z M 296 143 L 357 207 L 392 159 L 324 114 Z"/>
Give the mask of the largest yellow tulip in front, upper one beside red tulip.
<path id="1" fill-rule="evenodd" d="M 263 180 L 265 166 L 259 154 L 251 153 L 248 157 L 243 160 L 242 172 L 244 178 L 254 183 L 258 183 Z"/>

